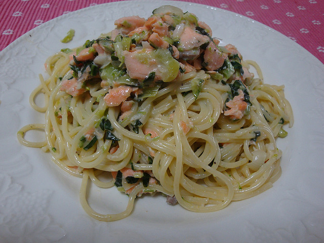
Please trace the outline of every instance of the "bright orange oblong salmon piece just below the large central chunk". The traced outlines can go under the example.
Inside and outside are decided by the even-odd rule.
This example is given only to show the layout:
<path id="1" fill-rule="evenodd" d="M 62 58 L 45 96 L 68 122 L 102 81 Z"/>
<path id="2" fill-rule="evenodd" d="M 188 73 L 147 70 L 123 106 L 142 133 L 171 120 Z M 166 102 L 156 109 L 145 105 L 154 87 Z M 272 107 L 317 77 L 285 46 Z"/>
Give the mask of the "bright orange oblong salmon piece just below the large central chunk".
<path id="1" fill-rule="evenodd" d="M 126 99 L 131 96 L 132 92 L 137 90 L 138 88 L 125 85 L 112 88 L 105 95 L 104 100 L 108 107 L 118 106 L 121 102 L 126 101 Z"/>

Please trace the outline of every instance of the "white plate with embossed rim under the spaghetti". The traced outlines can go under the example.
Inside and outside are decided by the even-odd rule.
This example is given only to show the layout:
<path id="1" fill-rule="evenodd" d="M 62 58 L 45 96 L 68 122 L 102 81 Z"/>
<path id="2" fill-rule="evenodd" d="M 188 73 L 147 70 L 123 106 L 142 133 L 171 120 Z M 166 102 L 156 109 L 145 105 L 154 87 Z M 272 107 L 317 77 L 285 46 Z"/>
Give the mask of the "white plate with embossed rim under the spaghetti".
<path id="1" fill-rule="evenodd" d="M 80 179 L 55 166 L 49 154 L 21 146 L 17 131 L 39 123 L 29 106 L 38 73 L 53 53 L 82 45 L 123 16 L 148 17 L 170 4 L 208 23 L 221 44 L 231 43 L 257 61 L 269 84 L 286 86 L 295 125 L 278 139 L 282 175 L 266 192 L 214 213 L 171 207 L 165 197 L 145 196 L 132 215 L 116 222 L 90 218 L 78 200 Z M 70 29 L 69 44 L 60 39 Z M 205 5 L 131 1 L 93 6 L 29 31 L 0 53 L 0 242 L 323 242 L 324 65 L 286 36 L 249 18 Z M 32 134 L 29 136 L 38 136 Z M 122 210 L 127 198 L 112 188 L 93 191 L 94 207 Z M 93 197 L 92 197 L 93 198 Z M 104 203 L 102 201 L 104 200 Z M 101 205 L 102 204 L 102 205 Z M 108 204 L 108 206 L 105 206 Z"/>

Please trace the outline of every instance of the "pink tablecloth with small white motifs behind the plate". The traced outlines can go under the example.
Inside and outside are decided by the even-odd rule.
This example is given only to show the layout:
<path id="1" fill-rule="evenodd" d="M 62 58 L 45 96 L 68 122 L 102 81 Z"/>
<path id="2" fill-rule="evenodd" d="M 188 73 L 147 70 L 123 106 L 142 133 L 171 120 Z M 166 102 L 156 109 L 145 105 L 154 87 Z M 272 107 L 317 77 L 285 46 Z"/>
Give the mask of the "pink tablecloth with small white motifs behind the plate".
<path id="1" fill-rule="evenodd" d="M 153 0 L 152 0 L 153 1 Z M 257 20 L 308 50 L 324 63 L 324 0 L 183 0 Z M 0 50 L 28 30 L 62 14 L 112 0 L 0 1 Z"/>

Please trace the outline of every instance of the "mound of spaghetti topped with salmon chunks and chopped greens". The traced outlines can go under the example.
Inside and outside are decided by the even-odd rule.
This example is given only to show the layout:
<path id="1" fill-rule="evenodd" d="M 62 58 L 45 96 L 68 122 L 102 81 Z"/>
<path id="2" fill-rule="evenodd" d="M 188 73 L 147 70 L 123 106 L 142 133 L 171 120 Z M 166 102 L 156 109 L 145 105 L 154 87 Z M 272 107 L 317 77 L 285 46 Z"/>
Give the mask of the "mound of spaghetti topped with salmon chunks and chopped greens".
<path id="1" fill-rule="evenodd" d="M 220 46 L 206 23 L 179 8 L 114 24 L 46 60 L 29 100 L 45 124 L 21 128 L 20 143 L 50 152 L 82 178 L 80 203 L 102 221 L 129 216 L 143 194 L 213 212 L 270 188 L 281 173 L 276 139 L 293 126 L 284 86 L 264 83 L 257 63 Z M 45 140 L 27 141 L 33 129 L 44 130 Z M 125 211 L 93 210 L 90 183 L 126 193 Z"/>

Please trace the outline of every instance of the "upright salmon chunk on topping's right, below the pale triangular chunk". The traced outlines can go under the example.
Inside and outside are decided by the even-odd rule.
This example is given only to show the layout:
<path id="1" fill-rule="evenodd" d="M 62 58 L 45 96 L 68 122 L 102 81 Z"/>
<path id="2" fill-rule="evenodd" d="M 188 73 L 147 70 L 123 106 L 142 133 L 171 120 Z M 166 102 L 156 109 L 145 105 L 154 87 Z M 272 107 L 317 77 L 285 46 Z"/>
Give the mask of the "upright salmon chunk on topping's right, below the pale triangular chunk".
<path id="1" fill-rule="evenodd" d="M 226 55 L 223 55 L 214 42 L 208 44 L 204 53 L 204 62 L 207 64 L 207 70 L 216 70 L 220 68 L 224 63 L 225 58 Z"/>

